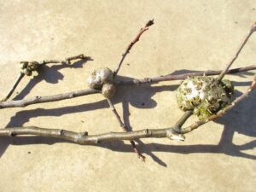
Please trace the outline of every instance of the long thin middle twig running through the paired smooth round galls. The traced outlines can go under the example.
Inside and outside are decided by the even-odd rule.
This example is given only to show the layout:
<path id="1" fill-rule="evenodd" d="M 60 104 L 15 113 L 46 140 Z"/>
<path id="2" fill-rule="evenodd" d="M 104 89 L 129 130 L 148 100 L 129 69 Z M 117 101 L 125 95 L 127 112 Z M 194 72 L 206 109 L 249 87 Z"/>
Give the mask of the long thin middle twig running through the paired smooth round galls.
<path id="1" fill-rule="evenodd" d="M 228 71 L 228 73 L 240 73 L 246 72 L 250 70 L 255 70 L 256 66 L 249 66 L 249 67 L 242 67 L 242 68 L 235 68 Z M 119 81 L 114 82 L 114 84 L 118 85 L 132 85 L 132 84 L 147 84 L 147 83 L 159 83 L 160 81 L 172 81 L 172 80 L 181 80 L 186 79 L 187 77 L 191 76 L 200 76 L 200 75 L 218 75 L 221 71 L 205 71 L 200 73 L 185 73 L 182 75 L 166 75 L 157 78 L 147 78 L 147 79 L 133 79 L 128 81 Z M 99 90 L 91 90 L 91 89 L 84 89 L 84 90 L 77 90 L 71 91 L 63 94 L 53 95 L 53 96 L 36 96 L 31 99 L 24 99 L 24 100 L 16 100 L 16 101 L 8 101 L 8 102 L 0 102 L 0 108 L 22 108 L 27 105 L 32 105 L 41 102 L 55 102 L 65 99 L 71 99 L 78 96 L 85 96 L 90 94 L 100 93 Z"/>

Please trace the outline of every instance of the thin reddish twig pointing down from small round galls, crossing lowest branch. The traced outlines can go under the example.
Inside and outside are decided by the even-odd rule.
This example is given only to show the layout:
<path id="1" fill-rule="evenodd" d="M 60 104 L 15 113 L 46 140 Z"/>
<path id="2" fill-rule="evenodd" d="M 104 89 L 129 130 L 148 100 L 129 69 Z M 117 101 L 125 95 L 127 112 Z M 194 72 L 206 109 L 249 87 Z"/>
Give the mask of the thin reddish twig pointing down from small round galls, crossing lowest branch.
<path id="1" fill-rule="evenodd" d="M 123 123 L 122 119 L 119 116 L 119 113 L 117 112 L 116 108 L 114 108 L 113 103 L 111 102 L 110 99 L 107 99 L 109 107 L 111 108 L 111 110 L 113 111 L 114 116 L 116 117 L 116 119 L 119 121 L 119 125 L 122 128 L 123 131 L 127 132 L 127 127 L 126 125 Z M 139 159 L 142 159 L 143 162 L 145 161 L 146 157 L 139 151 L 139 149 L 136 147 L 136 144 L 133 140 L 130 141 L 131 143 L 131 147 L 133 148 L 133 150 L 135 151 L 135 153 L 137 153 L 137 157 Z"/>

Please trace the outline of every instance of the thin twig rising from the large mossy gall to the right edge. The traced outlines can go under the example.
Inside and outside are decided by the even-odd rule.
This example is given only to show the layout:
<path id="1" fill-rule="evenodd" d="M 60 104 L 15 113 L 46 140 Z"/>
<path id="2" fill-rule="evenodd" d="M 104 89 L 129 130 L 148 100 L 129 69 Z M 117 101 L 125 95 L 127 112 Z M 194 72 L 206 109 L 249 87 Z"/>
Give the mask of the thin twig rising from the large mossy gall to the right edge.
<path id="1" fill-rule="evenodd" d="M 218 76 L 218 80 L 220 81 L 221 79 L 224 78 L 224 75 L 227 73 L 227 71 L 230 69 L 231 65 L 233 64 L 234 61 L 236 61 L 236 58 L 238 57 L 238 55 L 241 52 L 241 49 L 243 49 L 244 45 L 247 44 L 248 39 L 251 37 L 251 35 L 253 34 L 253 32 L 256 31 L 256 22 L 253 24 L 253 26 L 251 27 L 250 32 L 247 34 L 247 37 L 243 40 L 241 46 L 239 47 L 239 49 L 236 51 L 236 55 L 233 57 L 233 59 L 230 61 L 230 63 L 224 67 L 224 70 L 219 74 Z"/>

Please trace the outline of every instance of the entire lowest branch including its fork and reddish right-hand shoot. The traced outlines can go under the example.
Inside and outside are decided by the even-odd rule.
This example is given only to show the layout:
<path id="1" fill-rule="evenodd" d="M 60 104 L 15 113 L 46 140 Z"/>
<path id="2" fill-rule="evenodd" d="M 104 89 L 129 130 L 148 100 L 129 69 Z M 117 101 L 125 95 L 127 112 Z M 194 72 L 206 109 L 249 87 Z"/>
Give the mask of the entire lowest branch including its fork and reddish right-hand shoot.
<path id="1" fill-rule="evenodd" d="M 231 108 L 234 108 L 238 102 L 241 102 L 244 98 L 248 96 L 248 94 L 256 88 L 256 77 L 253 80 L 251 86 L 245 91 L 241 96 L 237 97 L 231 105 L 227 106 L 223 110 L 219 111 L 217 114 L 214 114 L 209 117 L 207 121 L 198 121 L 195 124 L 190 125 L 189 127 L 183 128 L 182 133 L 188 133 L 190 131 L 195 130 L 201 125 L 206 124 L 207 122 L 217 119 L 218 117 L 224 115 L 224 113 L 228 112 Z M 188 113 L 187 113 L 188 114 Z M 184 116 L 187 116 L 184 115 Z M 183 116 L 183 117 L 184 117 Z M 175 126 L 183 125 L 186 118 L 180 119 Z M 141 138 L 148 137 L 167 137 L 170 139 L 179 139 L 183 140 L 182 135 L 177 133 L 174 127 L 166 128 L 166 129 L 145 129 L 140 131 L 129 131 L 129 132 L 108 132 L 99 135 L 88 135 L 88 132 L 73 132 L 66 131 L 60 129 L 46 129 L 46 128 L 38 128 L 35 126 L 29 127 L 12 127 L 5 128 L 0 130 L 0 137 L 15 137 L 15 136 L 39 136 L 39 137 L 55 137 L 67 140 L 73 143 L 79 144 L 94 144 L 94 143 L 102 143 L 107 141 L 117 141 L 117 140 L 136 140 Z"/>

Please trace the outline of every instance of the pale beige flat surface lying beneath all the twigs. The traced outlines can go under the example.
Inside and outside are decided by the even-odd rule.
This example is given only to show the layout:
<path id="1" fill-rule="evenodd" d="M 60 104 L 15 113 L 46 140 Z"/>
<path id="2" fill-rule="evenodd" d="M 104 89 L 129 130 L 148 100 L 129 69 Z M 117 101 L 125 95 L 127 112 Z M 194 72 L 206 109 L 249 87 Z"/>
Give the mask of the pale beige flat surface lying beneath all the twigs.
<path id="1" fill-rule="evenodd" d="M 155 25 L 127 56 L 119 75 L 133 78 L 222 69 L 256 20 L 256 1 L 0 1 L 0 96 L 19 61 L 84 53 L 94 61 L 45 67 L 23 79 L 15 99 L 84 89 L 96 67 L 116 67 L 146 21 Z M 255 64 L 256 37 L 234 67 Z M 130 65 L 127 65 L 129 63 Z M 253 73 L 229 76 L 236 95 Z M 179 82 L 118 90 L 115 106 L 133 130 L 165 128 L 182 112 Z M 255 191 L 256 93 L 229 114 L 203 125 L 183 143 L 144 139 L 137 159 L 129 143 L 79 146 L 55 139 L 0 139 L 0 191 Z M 143 104 L 144 103 L 144 104 Z M 195 119 L 195 118 L 194 118 Z M 193 119 L 190 120 L 190 122 Z M 90 134 L 120 131 L 102 96 L 1 110 L 1 127 L 37 125 Z"/>

